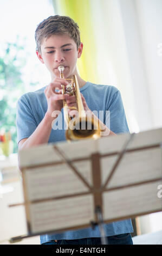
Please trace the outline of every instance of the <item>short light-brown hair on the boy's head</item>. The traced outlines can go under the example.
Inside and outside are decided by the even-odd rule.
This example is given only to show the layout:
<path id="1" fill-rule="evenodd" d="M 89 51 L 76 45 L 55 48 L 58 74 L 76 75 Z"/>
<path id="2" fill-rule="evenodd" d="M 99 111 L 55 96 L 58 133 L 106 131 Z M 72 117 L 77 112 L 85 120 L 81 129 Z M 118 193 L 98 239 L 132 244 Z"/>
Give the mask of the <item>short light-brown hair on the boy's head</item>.
<path id="1" fill-rule="evenodd" d="M 80 46 L 80 31 L 77 23 L 68 16 L 55 15 L 38 24 L 35 31 L 36 50 L 41 52 L 43 39 L 56 34 L 69 35 L 75 41 L 77 49 Z"/>

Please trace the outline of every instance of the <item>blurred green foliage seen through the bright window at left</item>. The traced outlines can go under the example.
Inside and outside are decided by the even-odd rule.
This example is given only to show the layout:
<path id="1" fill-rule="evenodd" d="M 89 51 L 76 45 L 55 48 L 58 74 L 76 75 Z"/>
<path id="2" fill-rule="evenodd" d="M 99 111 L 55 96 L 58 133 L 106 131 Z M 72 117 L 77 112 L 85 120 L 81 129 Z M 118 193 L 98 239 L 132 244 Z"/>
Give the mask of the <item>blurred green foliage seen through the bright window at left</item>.
<path id="1" fill-rule="evenodd" d="M 23 68 L 27 63 L 24 45 L 5 44 L 3 56 L 0 56 L 0 129 L 11 132 L 14 153 L 17 152 L 16 103 L 25 93 Z M 30 83 L 30 85 L 35 85 Z"/>

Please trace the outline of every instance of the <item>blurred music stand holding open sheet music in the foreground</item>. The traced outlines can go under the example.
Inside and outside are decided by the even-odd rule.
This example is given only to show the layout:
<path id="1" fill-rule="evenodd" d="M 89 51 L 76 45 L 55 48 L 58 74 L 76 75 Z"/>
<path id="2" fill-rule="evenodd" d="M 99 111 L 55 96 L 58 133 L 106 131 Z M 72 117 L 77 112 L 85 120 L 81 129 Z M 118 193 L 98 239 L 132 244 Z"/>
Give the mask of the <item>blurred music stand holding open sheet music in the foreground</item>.
<path id="1" fill-rule="evenodd" d="M 22 150 L 28 235 L 10 241 L 98 224 L 107 244 L 104 222 L 161 211 L 161 138 L 155 129 Z"/>

